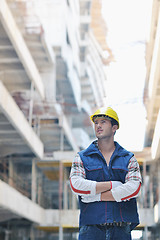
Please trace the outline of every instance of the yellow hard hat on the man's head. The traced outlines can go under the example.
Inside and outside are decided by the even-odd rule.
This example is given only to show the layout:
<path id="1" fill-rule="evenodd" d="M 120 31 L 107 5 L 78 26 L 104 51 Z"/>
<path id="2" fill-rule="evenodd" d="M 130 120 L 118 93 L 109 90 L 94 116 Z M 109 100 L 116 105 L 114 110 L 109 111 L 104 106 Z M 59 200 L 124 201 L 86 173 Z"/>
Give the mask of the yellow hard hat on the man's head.
<path id="1" fill-rule="evenodd" d="M 117 122 L 118 128 L 119 128 L 119 118 L 117 113 L 111 108 L 111 107 L 102 107 L 99 108 L 93 115 L 90 116 L 90 119 L 92 122 L 94 122 L 95 117 L 104 115 L 106 117 L 109 117 L 111 119 L 114 119 Z"/>

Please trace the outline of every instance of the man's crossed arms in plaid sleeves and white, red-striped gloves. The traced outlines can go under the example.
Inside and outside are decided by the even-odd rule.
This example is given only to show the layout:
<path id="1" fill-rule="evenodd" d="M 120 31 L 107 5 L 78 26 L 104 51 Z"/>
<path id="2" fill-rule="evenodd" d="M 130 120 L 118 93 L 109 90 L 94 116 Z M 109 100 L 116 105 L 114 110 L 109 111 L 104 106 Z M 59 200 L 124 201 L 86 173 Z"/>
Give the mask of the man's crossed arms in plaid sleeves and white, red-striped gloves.
<path id="1" fill-rule="evenodd" d="M 137 197 L 141 185 L 141 175 L 137 160 L 133 157 L 130 160 L 129 172 L 124 184 L 119 181 L 96 182 L 87 180 L 80 156 L 76 155 L 72 164 L 70 184 L 72 191 L 80 195 L 83 202 L 121 202 Z"/>

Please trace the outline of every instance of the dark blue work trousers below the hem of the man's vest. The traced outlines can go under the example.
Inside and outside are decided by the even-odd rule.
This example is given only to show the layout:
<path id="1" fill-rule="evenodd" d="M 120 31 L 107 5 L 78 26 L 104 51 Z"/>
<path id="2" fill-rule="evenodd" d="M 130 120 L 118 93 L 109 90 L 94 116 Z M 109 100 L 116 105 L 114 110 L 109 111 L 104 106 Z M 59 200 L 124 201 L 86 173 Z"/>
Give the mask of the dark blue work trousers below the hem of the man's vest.
<path id="1" fill-rule="evenodd" d="M 101 226 L 87 225 L 80 227 L 78 240 L 131 240 L 130 225 Z"/>

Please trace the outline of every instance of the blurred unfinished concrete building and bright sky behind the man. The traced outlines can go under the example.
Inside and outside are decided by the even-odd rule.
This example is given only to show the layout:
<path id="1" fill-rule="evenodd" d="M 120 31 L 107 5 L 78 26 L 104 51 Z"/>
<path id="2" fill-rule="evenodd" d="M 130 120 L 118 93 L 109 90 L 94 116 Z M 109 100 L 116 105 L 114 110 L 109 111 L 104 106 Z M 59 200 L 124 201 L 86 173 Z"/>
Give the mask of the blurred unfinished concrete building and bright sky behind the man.
<path id="1" fill-rule="evenodd" d="M 134 240 L 160 239 L 159 0 L 0 0 L 0 240 L 76 240 L 69 173 L 111 106 L 143 184 Z"/>

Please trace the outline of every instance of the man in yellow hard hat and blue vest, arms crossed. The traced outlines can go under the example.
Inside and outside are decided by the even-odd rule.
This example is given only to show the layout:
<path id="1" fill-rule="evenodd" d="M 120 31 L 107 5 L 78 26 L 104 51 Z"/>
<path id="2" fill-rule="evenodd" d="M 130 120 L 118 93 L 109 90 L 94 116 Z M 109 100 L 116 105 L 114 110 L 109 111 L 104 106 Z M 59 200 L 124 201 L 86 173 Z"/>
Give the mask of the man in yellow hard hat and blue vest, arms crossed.
<path id="1" fill-rule="evenodd" d="M 79 196 L 79 240 L 130 240 L 139 224 L 139 165 L 114 141 L 119 119 L 112 108 L 100 108 L 91 120 L 97 140 L 76 155 L 70 173 L 72 191 Z"/>

